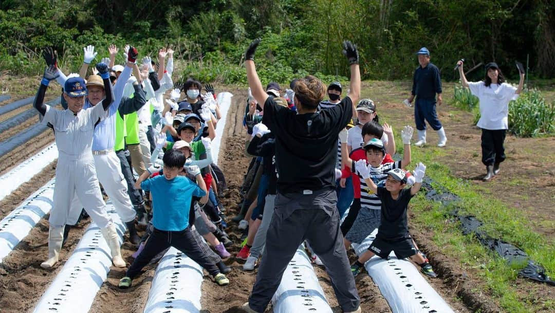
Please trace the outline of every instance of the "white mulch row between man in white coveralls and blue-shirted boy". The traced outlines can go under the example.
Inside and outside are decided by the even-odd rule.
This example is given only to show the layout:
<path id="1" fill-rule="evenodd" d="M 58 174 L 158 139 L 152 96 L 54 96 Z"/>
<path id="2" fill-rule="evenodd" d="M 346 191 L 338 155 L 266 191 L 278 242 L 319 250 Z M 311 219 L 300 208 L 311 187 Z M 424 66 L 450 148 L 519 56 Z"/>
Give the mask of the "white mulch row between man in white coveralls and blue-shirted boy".
<path id="1" fill-rule="evenodd" d="M 111 203 L 107 204 L 107 209 L 116 225 L 121 244 L 125 225 Z M 33 312 L 88 312 L 108 276 L 110 266 L 110 248 L 100 228 L 90 223 L 77 248 L 44 292 Z"/>

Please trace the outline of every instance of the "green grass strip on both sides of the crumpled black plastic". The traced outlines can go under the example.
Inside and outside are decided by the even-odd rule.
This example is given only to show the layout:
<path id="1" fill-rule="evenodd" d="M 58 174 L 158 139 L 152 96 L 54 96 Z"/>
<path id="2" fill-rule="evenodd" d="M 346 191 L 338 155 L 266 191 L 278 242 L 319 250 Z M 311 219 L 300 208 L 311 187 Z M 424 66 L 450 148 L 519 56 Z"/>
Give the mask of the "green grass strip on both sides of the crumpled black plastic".
<path id="1" fill-rule="evenodd" d="M 521 211 L 509 209 L 501 201 L 483 196 L 487 190 L 453 176 L 446 165 L 435 161 L 445 154 L 444 151 L 437 148 L 412 149 L 412 166 L 420 161 L 426 164 L 426 175 L 438 186 L 461 197 L 456 204 L 461 213 L 475 215 L 483 222 L 482 229 L 488 235 L 517 245 L 552 276 L 555 273 L 555 242 L 531 231 L 529 221 Z M 523 304 L 514 288 L 514 281 L 523 265 L 509 265 L 473 236 L 462 235 L 458 223 L 446 218 L 454 205 L 440 206 L 440 203 L 426 200 L 424 193 L 420 193 L 411 202 L 411 210 L 415 213 L 417 227 L 432 229 L 434 243 L 446 255 L 460 260 L 463 267 L 472 269 L 483 279 L 485 290 L 477 287 L 477 291 L 491 294 L 507 312 L 534 312 L 529 305 Z"/>

